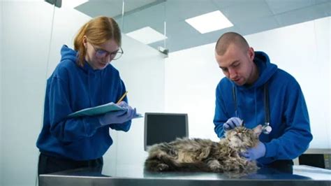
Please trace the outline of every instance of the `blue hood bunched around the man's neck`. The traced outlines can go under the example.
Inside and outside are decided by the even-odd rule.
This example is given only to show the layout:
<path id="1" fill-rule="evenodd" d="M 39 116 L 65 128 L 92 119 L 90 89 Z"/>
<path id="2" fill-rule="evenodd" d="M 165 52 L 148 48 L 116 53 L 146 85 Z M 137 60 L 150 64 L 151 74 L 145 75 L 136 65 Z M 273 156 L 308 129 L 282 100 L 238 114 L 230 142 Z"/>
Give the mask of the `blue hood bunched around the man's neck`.
<path id="1" fill-rule="evenodd" d="M 250 86 L 237 86 L 239 89 L 256 88 L 264 85 L 277 71 L 277 65 L 271 64 L 268 55 L 265 52 L 255 52 L 254 63 L 258 66 L 258 79 Z"/>

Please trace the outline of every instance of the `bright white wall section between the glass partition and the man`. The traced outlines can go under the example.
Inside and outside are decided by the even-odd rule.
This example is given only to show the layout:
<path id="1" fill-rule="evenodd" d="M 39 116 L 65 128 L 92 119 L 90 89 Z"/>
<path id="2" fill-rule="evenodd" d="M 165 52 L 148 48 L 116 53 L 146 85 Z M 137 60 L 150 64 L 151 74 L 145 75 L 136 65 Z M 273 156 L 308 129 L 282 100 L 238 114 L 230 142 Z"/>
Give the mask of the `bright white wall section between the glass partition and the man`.
<path id="1" fill-rule="evenodd" d="M 190 137 L 217 140 L 212 118 L 221 78 L 214 43 L 172 52 L 165 59 L 165 111 L 189 114 Z"/>

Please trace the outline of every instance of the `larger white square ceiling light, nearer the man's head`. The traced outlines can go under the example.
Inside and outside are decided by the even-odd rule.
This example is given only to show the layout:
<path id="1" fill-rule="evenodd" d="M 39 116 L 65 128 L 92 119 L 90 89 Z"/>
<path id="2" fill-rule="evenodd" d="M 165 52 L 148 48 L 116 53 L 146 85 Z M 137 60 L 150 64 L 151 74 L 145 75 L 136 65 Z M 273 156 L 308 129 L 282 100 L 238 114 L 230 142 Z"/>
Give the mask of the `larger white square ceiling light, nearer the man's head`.
<path id="1" fill-rule="evenodd" d="M 219 10 L 192 17 L 185 21 L 191 24 L 191 26 L 198 30 L 201 34 L 233 27 L 233 24 Z"/>

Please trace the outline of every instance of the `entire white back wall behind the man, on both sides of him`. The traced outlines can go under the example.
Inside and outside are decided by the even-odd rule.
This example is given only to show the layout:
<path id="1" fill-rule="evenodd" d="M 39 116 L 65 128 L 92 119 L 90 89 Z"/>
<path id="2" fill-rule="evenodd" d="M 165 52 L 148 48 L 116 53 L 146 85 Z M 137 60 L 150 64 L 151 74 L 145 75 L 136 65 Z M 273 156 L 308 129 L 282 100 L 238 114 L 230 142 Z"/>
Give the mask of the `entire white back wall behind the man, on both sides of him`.
<path id="1" fill-rule="evenodd" d="M 310 148 L 331 148 L 330 17 L 245 38 L 300 83 L 314 135 Z M 165 111 L 189 113 L 190 136 L 216 141 L 214 94 L 224 76 L 214 59 L 214 45 L 170 53 L 165 60 Z"/>

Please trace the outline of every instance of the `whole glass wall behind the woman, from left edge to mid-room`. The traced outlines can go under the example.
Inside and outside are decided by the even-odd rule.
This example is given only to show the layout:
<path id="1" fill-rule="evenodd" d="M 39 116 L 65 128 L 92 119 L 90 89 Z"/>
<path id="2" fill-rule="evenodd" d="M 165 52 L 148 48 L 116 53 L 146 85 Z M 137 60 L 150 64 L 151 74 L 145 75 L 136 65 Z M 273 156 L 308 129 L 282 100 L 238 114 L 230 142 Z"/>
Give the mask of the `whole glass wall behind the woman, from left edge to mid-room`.
<path id="1" fill-rule="evenodd" d="M 106 4 L 89 1 L 89 8 L 101 6 L 108 10 L 93 16 L 80 12 L 79 7 L 69 8 L 66 1 L 62 1 L 61 8 L 54 8 L 45 1 L 0 2 L 0 185 L 35 185 L 39 153 L 36 139 L 43 120 L 45 83 L 59 64 L 61 46 L 73 48 L 73 38 L 82 24 L 91 17 L 108 15 L 115 6 L 122 8 L 123 1 Z M 126 7 L 130 8 L 130 1 Z M 112 15 L 108 16 L 122 17 L 117 14 L 122 13 L 122 9 L 110 13 Z M 125 20 L 119 18 L 117 21 L 124 29 Z M 160 22 L 163 25 L 163 20 Z M 124 55 L 112 65 L 119 70 L 126 84 L 130 104 L 138 113 L 162 112 L 164 55 L 125 34 L 122 48 Z M 153 104 L 147 104 L 150 101 Z M 114 143 L 104 156 L 105 173 L 116 173 L 119 164 L 132 166 L 137 163 L 135 157 L 129 156 L 132 150 L 136 157 L 145 158 L 143 119 L 133 120 L 126 133 L 110 130 L 110 135 Z"/>

